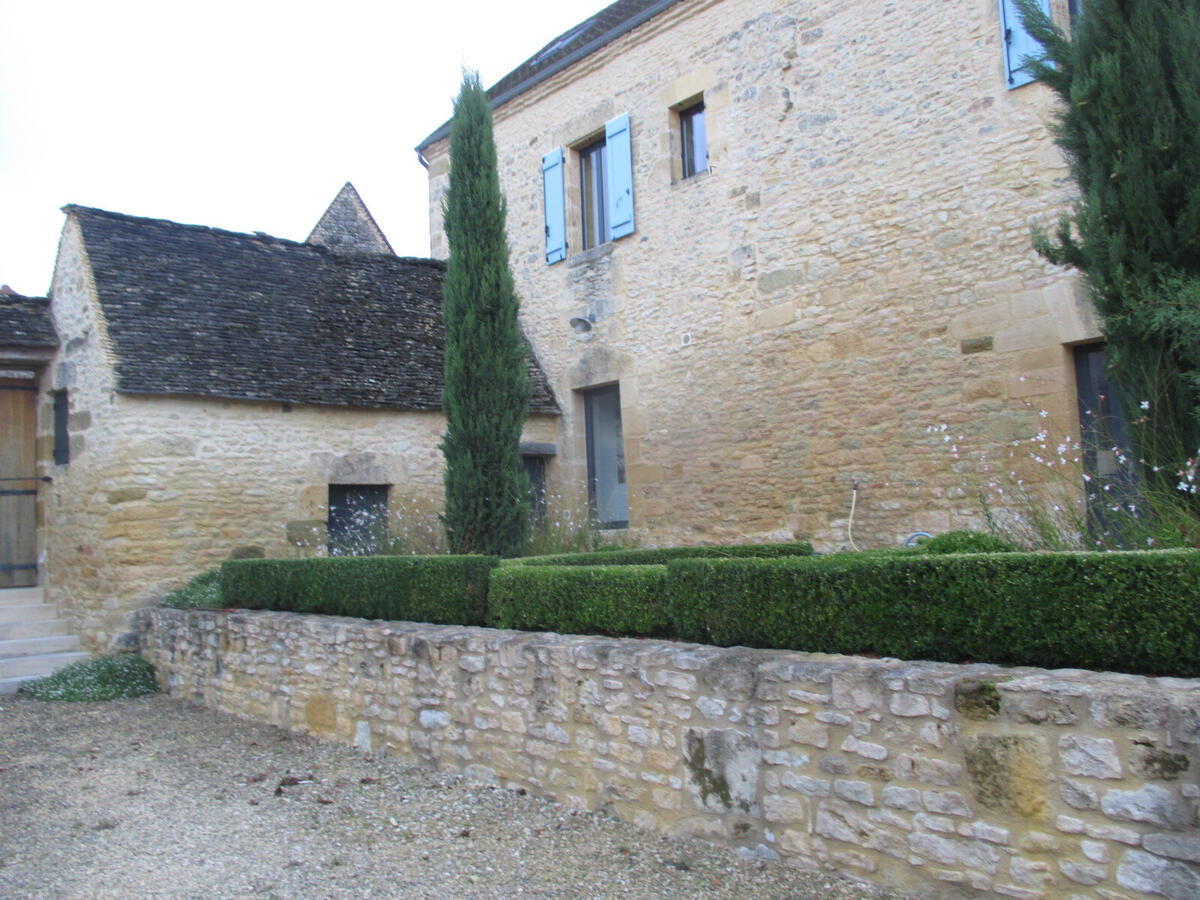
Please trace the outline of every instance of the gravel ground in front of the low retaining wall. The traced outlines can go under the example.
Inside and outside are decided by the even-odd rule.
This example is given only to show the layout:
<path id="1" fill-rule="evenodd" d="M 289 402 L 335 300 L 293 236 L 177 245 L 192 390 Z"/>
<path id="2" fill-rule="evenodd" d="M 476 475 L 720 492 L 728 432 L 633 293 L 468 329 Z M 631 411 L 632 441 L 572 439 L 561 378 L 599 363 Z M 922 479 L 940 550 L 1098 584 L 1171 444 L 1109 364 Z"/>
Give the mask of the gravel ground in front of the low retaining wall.
<path id="1" fill-rule="evenodd" d="M 0 697 L 2 898 L 895 898 L 166 696 Z"/>

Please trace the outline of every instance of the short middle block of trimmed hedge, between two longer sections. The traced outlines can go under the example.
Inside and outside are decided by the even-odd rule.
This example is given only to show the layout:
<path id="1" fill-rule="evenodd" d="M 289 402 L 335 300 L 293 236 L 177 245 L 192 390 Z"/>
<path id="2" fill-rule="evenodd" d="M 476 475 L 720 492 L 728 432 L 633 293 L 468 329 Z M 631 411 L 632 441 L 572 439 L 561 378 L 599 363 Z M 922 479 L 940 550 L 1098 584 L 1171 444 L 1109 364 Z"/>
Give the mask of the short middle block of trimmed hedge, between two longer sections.
<path id="1" fill-rule="evenodd" d="M 566 634 L 654 635 L 667 626 L 665 565 L 514 565 L 492 572 L 491 624 Z"/>

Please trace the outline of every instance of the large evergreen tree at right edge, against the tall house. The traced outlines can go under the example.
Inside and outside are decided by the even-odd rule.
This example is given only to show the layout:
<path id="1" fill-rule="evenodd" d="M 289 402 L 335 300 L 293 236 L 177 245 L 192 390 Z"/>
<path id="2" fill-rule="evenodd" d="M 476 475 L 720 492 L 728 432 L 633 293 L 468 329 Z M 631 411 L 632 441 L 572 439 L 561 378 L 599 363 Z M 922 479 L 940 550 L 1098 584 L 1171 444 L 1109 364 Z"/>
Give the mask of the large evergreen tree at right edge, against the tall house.
<path id="1" fill-rule="evenodd" d="M 1080 194 L 1034 246 L 1086 277 L 1110 374 L 1150 404 L 1134 428 L 1146 475 L 1174 487 L 1200 448 L 1200 0 L 1085 0 L 1072 36 L 1018 4 Z"/>

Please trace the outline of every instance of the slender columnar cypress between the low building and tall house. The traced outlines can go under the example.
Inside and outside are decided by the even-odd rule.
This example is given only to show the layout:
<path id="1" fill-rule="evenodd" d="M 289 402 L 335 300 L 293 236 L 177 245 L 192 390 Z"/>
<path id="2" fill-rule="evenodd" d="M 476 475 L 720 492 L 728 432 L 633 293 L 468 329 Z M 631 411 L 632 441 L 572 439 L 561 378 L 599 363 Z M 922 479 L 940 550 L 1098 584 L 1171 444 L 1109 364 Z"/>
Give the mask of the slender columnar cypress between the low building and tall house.
<path id="1" fill-rule="evenodd" d="M 529 486 L 520 442 L 530 389 L 492 113 L 473 72 L 464 73 L 454 104 L 443 215 L 450 246 L 442 288 L 443 523 L 452 553 L 516 556 L 528 532 Z"/>

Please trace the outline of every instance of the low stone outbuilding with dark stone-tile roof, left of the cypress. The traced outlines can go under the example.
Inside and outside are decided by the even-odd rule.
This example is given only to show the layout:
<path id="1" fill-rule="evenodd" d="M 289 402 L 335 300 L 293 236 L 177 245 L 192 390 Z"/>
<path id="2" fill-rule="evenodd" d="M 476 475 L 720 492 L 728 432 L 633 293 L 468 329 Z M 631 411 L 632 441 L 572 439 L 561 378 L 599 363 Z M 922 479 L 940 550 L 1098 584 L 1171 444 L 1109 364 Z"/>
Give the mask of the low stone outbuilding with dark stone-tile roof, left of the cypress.
<path id="1" fill-rule="evenodd" d="M 419 542 L 442 499 L 443 263 L 395 256 L 350 185 L 302 244 L 65 211 L 50 301 L 20 308 L 42 316 L 37 390 L 0 444 L 44 479 L 22 571 L 85 647 L 230 557 L 370 546 L 380 522 Z M 530 378 L 536 469 L 558 407 L 533 359 Z"/>

